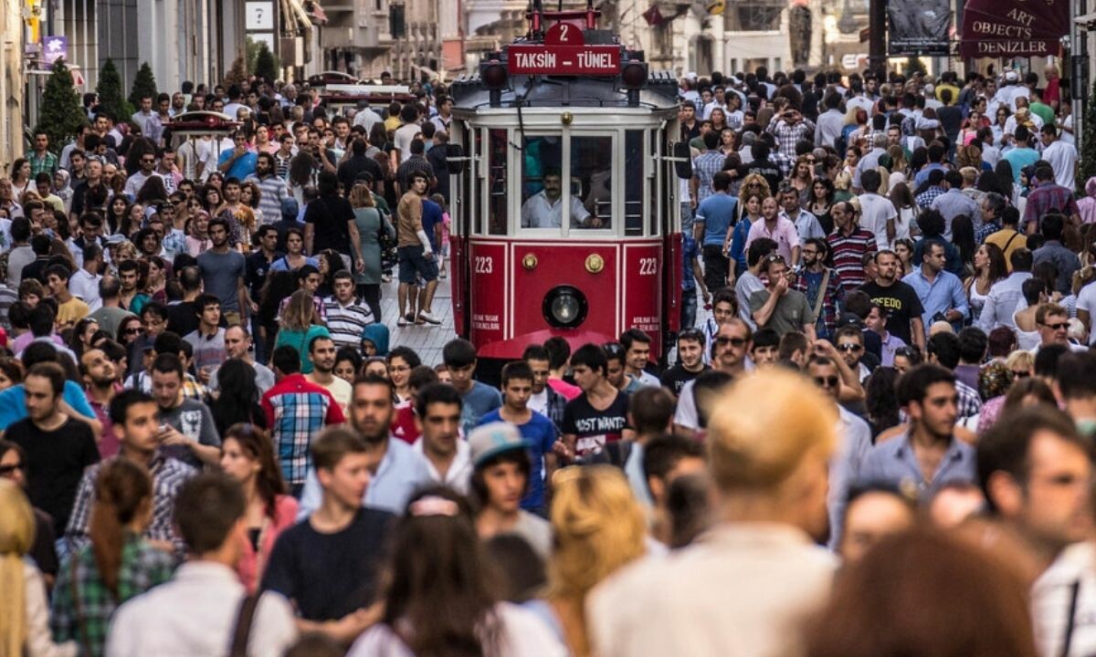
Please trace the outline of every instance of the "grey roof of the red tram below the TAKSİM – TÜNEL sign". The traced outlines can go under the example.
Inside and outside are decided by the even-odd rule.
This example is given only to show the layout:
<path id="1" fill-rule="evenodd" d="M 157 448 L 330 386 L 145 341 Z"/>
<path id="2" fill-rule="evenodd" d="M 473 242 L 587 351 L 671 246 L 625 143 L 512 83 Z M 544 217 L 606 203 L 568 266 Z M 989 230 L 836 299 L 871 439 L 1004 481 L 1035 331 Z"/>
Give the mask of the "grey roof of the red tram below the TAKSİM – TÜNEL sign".
<path id="1" fill-rule="evenodd" d="M 677 80 L 667 71 L 652 71 L 639 105 L 628 105 L 628 94 L 615 78 L 564 76 L 511 76 L 510 89 L 502 91 L 501 105 L 491 106 L 491 92 L 479 72 L 463 76 L 449 87 L 454 110 L 479 111 L 537 107 L 606 107 L 620 110 L 670 110 L 677 107 Z"/>

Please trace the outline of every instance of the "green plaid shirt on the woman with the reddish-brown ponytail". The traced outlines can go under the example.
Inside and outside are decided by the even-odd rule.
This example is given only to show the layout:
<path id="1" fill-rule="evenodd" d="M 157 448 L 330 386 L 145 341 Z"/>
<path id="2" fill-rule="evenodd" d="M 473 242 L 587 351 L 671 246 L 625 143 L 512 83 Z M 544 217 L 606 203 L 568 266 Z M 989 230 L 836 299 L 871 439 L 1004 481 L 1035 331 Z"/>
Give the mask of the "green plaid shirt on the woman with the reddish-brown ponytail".
<path id="1" fill-rule="evenodd" d="M 94 551 L 85 545 L 57 574 L 49 612 L 54 641 L 75 641 L 84 648 L 81 655 L 100 657 L 114 611 L 126 600 L 170 579 L 173 565 L 170 555 L 128 533 L 122 546 L 115 599 L 99 574 Z"/>

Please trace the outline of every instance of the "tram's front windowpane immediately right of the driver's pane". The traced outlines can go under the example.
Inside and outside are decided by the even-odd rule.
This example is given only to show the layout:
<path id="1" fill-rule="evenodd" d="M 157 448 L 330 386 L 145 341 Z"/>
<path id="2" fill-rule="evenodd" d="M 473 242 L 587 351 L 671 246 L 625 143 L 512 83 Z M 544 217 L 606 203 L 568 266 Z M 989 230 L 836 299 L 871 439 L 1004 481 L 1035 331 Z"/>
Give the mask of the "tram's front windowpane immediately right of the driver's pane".
<path id="1" fill-rule="evenodd" d="M 571 137 L 572 228 L 613 228 L 613 137 Z"/>

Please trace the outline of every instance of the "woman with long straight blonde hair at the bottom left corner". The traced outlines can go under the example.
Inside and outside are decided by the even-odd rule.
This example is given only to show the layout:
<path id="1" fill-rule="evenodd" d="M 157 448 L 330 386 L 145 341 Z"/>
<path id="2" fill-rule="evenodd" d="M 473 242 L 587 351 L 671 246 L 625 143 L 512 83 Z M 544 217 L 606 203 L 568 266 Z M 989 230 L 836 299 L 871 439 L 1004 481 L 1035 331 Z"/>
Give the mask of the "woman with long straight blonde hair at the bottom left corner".
<path id="1" fill-rule="evenodd" d="M 34 543 L 34 511 L 23 491 L 0 480 L 0 655 L 76 657 L 73 642 L 55 644 L 42 573 L 25 558 Z"/>

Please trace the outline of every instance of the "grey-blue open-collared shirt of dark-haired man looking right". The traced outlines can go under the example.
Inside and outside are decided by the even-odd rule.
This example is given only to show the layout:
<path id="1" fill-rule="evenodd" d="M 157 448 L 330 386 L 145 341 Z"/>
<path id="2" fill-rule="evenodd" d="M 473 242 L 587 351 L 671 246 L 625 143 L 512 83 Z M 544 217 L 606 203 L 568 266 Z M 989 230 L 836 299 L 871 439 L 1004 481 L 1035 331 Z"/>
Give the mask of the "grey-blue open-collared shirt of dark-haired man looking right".
<path id="1" fill-rule="evenodd" d="M 962 440 L 951 438 L 948 451 L 933 473 L 932 481 L 925 481 L 921 464 L 910 445 L 910 435 L 892 438 L 871 448 L 860 466 L 859 481 L 901 486 L 912 482 L 917 493 L 925 499 L 935 495 L 945 484 L 978 484 L 978 464 L 974 448 Z"/>

